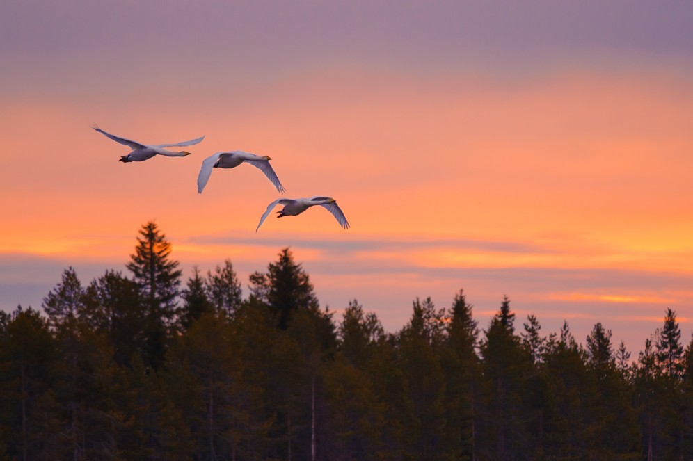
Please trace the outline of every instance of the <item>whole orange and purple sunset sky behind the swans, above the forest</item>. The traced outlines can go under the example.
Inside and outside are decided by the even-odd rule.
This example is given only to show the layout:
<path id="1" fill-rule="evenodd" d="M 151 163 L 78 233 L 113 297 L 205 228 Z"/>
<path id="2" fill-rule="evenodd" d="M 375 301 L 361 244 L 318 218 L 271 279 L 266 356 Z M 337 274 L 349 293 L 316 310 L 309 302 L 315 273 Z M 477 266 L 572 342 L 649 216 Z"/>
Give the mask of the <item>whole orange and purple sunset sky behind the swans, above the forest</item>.
<path id="1" fill-rule="evenodd" d="M 186 280 L 290 247 L 322 306 L 399 330 L 459 289 L 480 327 L 600 321 L 637 355 L 676 310 L 693 329 L 690 1 L 6 0 L 0 6 L 0 309 L 40 307 L 74 266 L 125 270 L 156 220 Z M 185 158 L 127 147 L 206 136 Z M 250 165 L 273 158 L 268 218 Z M 337 315 L 337 319 L 340 316 Z"/>

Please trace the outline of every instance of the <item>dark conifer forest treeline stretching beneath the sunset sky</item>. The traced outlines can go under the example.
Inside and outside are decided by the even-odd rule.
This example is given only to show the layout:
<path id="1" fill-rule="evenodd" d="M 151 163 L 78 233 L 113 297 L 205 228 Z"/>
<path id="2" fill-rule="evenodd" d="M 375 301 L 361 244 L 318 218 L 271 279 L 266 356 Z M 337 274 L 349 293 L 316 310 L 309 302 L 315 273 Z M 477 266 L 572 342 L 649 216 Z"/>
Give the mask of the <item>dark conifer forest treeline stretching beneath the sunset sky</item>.
<path id="1" fill-rule="evenodd" d="M 0 313 L 0 459 L 693 459 L 671 309 L 634 360 L 600 323 L 516 329 L 507 298 L 480 330 L 463 291 L 387 334 L 320 309 L 288 249 L 245 299 L 231 261 L 181 289 L 170 253 L 148 223 L 129 277 L 68 268 L 45 314 Z"/>

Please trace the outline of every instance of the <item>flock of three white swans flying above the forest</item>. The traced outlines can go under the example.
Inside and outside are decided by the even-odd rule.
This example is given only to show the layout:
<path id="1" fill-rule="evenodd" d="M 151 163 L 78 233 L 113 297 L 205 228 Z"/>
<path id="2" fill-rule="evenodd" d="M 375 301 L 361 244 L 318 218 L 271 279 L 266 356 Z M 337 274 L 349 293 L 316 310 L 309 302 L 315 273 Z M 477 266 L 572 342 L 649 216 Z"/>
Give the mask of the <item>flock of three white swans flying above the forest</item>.
<path id="1" fill-rule="evenodd" d="M 116 143 L 126 145 L 127 147 L 132 149 L 129 154 L 121 156 L 120 160 L 118 160 L 123 163 L 141 162 L 151 159 L 155 155 L 164 155 L 167 157 L 188 156 L 190 155 L 190 152 L 173 152 L 164 149 L 164 147 L 185 147 L 200 143 L 200 141 L 202 141 L 205 138 L 205 136 L 201 136 L 200 138 L 191 139 L 189 141 L 183 141 L 182 143 L 152 145 L 141 144 L 129 139 L 120 138 L 120 136 L 115 136 L 113 134 L 106 133 L 106 131 L 100 129 L 99 127 L 93 127 L 93 129 L 103 134 L 107 138 L 111 138 L 112 140 L 116 141 Z M 216 152 L 216 154 L 213 154 L 207 157 L 207 159 L 205 159 L 204 161 L 202 161 L 202 168 L 200 168 L 200 173 L 198 175 L 198 193 L 201 194 L 202 191 L 205 189 L 205 186 L 207 186 L 209 176 L 212 175 L 212 169 L 236 168 L 241 163 L 248 163 L 250 165 L 255 166 L 256 168 L 259 168 L 260 171 L 262 171 L 264 175 L 267 177 L 267 179 L 269 179 L 269 181 L 277 188 L 277 191 L 279 193 L 284 193 L 285 188 L 279 181 L 279 178 L 277 177 L 277 174 L 274 172 L 272 165 L 269 164 L 270 160 L 271 158 L 269 156 L 259 156 L 255 154 L 250 154 L 249 152 L 243 152 L 241 150 L 234 150 L 232 152 Z M 332 197 L 310 197 L 293 199 L 282 197 L 267 205 L 267 209 L 264 213 L 262 213 L 262 217 L 260 217 L 260 223 L 257 224 L 255 232 L 257 232 L 257 229 L 260 229 L 260 226 L 262 225 L 262 223 L 264 223 L 264 220 L 267 218 L 267 216 L 269 216 L 269 213 L 271 213 L 271 211 L 277 205 L 284 206 L 281 211 L 277 211 L 277 218 L 281 218 L 282 216 L 296 216 L 303 213 L 303 211 L 307 210 L 309 207 L 313 207 L 314 205 L 321 205 L 327 211 L 332 213 L 332 215 L 337 220 L 337 223 L 340 223 L 340 226 L 342 226 L 342 229 L 349 229 L 349 222 L 347 222 L 346 216 L 344 216 L 342 209 L 340 209 L 340 207 L 337 205 L 337 201 Z"/>

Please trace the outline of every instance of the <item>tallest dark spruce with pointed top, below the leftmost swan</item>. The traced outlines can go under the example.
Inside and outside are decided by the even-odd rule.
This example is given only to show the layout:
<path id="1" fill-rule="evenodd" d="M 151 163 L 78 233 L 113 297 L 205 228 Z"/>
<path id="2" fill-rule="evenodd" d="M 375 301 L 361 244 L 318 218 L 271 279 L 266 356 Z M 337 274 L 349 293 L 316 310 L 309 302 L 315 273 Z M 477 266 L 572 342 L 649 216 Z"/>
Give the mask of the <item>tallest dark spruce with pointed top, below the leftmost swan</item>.
<path id="1" fill-rule="evenodd" d="M 168 338 L 175 329 L 181 270 L 171 251 L 166 236 L 156 223 L 149 222 L 140 229 L 135 252 L 126 265 L 147 306 L 143 359 L 154 369 L 164 360 Z"/>

